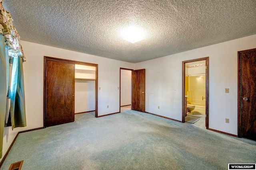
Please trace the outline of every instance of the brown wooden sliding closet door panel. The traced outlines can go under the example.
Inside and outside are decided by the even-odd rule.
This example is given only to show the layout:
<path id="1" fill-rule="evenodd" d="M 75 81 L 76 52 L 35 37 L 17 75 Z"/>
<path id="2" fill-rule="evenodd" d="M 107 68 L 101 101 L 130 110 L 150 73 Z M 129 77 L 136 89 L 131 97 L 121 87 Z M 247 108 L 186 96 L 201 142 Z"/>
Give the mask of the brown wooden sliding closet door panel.
<path id="1" fill-rule="evenodd" d="M 75 64 L 46 63 L 46 127 L 74 121 Z"/>

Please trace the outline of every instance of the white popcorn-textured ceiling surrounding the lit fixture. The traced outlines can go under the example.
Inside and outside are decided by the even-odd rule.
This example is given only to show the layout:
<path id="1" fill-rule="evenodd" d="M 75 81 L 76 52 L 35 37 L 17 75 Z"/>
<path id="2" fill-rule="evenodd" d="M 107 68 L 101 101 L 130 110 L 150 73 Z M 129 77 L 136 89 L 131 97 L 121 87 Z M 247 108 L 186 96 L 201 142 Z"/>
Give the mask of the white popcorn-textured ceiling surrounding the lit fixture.
<path id="1" fill-rule="evenodd" d="M 4 0 L 3 4 L 24 41 L 130 63 L 256 34 L 256 0 Z M 120 32 L 129 25 L 144 29 L 145 39 L 134 44 L 122 39 Z"/>

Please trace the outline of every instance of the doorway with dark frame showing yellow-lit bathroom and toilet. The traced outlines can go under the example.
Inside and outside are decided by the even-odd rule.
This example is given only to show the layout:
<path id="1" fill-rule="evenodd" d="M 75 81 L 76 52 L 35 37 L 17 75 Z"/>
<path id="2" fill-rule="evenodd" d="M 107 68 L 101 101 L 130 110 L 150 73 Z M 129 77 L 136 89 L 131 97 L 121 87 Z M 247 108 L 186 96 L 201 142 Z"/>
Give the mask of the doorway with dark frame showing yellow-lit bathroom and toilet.
<path id="1" fill-rule="evenodd" d="M 182 61 L 182 122 L 209 129 L 209 57 Z"/>

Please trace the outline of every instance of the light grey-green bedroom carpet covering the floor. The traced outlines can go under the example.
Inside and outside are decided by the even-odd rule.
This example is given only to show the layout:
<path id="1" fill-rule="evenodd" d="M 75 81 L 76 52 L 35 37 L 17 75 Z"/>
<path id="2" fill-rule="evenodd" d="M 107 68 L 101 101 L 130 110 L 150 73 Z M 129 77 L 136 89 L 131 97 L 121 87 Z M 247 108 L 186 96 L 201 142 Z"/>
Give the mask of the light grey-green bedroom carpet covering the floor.
<path id="1" fill-rule="evenodd" d="M 226 170 L 255 163 L 256 141 L 138 111 L 21 133 L 0 170 Z"/>

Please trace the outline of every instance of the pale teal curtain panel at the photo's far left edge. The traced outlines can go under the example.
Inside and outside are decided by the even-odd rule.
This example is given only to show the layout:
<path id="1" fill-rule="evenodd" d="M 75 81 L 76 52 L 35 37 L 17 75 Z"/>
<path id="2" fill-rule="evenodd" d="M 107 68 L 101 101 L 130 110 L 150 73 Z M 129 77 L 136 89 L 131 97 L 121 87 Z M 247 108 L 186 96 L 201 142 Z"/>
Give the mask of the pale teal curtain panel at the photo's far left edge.
<path id="1" fill-rule="evenodd" d="M 2 146 L 4 136 L 4 123 L 6 115 L 6 100 L 9 84 L 9 56 L 4 45 L 5 37 L 0 35 L 0 158 L 2 158 Z"/>

